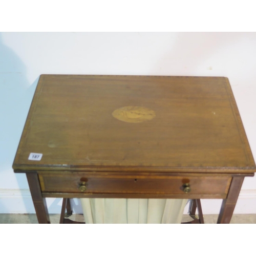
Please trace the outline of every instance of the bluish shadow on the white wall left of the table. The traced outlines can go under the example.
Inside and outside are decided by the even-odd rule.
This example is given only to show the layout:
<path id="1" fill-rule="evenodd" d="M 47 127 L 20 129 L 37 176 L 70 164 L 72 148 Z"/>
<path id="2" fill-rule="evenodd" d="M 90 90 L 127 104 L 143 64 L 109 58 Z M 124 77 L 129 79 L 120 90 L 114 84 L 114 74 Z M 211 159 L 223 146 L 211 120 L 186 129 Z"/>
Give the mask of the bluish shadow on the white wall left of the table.
<path id="1" fill-rule="evenodd" d="M 38 78 L 30 85 L 26 66 L 15 52 L 3 43 L 0 33 L 0 189 L 27 189 L 25 174 L 14 174 L 12 163 L 29 111 Z M 9 200 L 10 204 L 12 200 Z M 23 199 L 27 212 L 31 202 Z M 1 212 L 9 212 L 14 206 L 8 200 L 0 203 Z"/>

